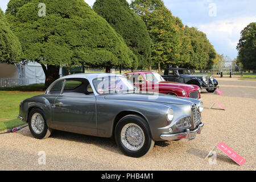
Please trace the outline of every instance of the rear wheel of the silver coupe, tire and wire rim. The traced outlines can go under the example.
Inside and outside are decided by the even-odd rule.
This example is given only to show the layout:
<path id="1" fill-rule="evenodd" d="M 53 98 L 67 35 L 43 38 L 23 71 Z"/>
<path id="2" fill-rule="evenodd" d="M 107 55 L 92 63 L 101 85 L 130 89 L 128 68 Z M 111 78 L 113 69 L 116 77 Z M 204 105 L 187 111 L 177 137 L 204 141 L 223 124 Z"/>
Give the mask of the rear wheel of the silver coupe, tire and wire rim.
<path id="1" fill-rule="evenodd" d="M 38 118 L 38 122 L 36 122 L 36 117 Z M 30 133 L 37 139 L 46 139 L 52 132 L 52 129 L 49 129 L 47 126 L 46 115 L 39 108 L 34 108 L 30 111 L 28 115 L 28 127 L 30 128 Z"/>

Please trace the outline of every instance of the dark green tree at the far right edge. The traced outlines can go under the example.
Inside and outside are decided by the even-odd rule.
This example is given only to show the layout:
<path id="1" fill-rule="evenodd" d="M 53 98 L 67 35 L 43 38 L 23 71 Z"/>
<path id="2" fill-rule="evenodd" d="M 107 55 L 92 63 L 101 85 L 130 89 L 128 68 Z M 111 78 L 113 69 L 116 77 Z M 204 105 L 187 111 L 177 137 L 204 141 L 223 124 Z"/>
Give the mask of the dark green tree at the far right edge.
<path id="1" fill-rule="evenodd" d="M 254 69 L 256 73 L 256 23 L 250 23 L 241 31 L 241 38 L 237 44 L 238 63 L 243 69 Z"/>

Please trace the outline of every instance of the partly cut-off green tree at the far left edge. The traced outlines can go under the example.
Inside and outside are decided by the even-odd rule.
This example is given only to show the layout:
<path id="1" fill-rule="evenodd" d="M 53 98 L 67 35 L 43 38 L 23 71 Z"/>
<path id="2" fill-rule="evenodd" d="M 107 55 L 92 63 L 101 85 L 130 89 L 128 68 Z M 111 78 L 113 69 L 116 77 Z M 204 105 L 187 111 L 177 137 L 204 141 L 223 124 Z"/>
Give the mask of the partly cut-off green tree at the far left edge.
<path id="1" fill-rule="evenodd" d="M 0 61 L 16 62 L 20 60 L 22 48 L 19 39 L 11 31 L 9 23 L 0 9 Z"/>

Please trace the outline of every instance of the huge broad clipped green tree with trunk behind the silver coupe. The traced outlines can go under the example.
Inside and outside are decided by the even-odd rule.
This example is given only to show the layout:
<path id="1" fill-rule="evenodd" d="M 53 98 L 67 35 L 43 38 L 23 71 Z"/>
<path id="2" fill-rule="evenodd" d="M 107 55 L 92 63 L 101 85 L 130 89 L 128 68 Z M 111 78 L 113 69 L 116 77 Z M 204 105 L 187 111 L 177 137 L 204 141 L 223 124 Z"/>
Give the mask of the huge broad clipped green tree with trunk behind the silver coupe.
<path id="1" fill-rule="evenodd" d="M 42 65 L 46 87 L 59 77 L 60 65 L 138 65 L 123 38 L 83 0 L 10 0 L 6 16 L 23 59 Z"/>

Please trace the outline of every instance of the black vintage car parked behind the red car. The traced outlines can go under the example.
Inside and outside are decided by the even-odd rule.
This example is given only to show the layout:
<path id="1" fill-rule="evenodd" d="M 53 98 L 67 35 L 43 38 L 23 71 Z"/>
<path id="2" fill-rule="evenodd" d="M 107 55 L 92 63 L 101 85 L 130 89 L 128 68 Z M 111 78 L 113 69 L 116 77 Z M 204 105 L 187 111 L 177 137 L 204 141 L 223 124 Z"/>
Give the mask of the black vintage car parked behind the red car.
<path id="1" fill-rule="evenodd" d="M 206 89 L 207 92 L 214 92 L 219 87 L 218 81 L 212 76 L 192 75 L 189 69 L 185 68 L 167 68 L 162 77 L 166 81 L 197 85 L 201 89 Z"/>

